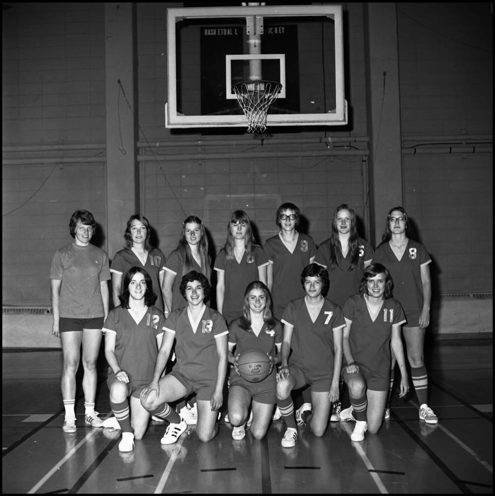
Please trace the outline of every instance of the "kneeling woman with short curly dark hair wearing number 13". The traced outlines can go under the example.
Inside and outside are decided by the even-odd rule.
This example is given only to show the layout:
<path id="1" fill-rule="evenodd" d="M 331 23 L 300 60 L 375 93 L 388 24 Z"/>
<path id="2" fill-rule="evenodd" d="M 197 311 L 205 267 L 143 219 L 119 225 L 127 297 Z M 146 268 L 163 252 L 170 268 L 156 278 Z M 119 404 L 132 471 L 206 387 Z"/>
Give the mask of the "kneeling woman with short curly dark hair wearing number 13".
<path id="1" fill-rule="evenodd" d="M 158 352 L 153 379 L 141 392 L 141 404 L 152 415 L 170 425 L 161 443 L 172 444 L 186 431 L 187 424 L 169 403 L 197 395 L 196 433 L 209 441 L 218 433 L 218 411 L 223 402 L 227 372 L 227 324 L 222 315 L 208 308 L 210 283 L 205 275 L 192 270 L 183 278 L 181 295 L 187 306 L 174 310 L 165 324 L 165 336 Z M 162 378 L 162 372 L 175 344 L 176 364 Z"/>

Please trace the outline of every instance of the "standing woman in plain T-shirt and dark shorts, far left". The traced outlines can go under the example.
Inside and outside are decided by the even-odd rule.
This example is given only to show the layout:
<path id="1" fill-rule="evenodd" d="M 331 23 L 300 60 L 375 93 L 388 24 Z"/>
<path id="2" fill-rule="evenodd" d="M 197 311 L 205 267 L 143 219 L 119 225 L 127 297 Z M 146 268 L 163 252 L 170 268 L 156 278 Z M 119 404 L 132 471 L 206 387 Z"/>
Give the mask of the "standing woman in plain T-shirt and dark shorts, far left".
<path id="1" fill-rule="evenodd" d="M 59 248 L 52 259 L 50 284 L 53 335 L 62 342 L 62 399 L 65 420 L 62 430 L 75 433 L 75 375 L 82 345 L 84 409 L 86 424 L 102 427 L 95 412 L 96 362 L 100 352 L 102 327 L 109 310 L 110 270 L 105 251 L 90 244 L 96 222 L 87 210 L 76 210 L 69 222 L 74 242 Z"/>

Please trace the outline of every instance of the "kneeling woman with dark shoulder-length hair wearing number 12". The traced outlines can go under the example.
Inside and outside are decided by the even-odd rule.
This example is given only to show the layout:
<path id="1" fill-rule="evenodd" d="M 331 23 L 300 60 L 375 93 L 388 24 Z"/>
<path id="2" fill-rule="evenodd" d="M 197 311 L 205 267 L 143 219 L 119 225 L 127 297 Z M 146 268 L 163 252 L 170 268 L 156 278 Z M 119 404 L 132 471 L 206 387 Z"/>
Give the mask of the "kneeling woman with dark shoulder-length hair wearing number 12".
<path id="1" fill-rule="evenodd" d="M 154 307 L 151 278 L 140 267 L 126 272 L 124 293 L 119 299 L 121 305 L 110 311 L 103 326 L 105 357 L 110 366 L 110 406 L 115 415 L 103 425 L 122 429 L 119 450 L 132 451 L 134 438 L 141 439 L 148 427 L 149 413 L 141 406 L 139 396 L 153 377 L 165 315 Z"/>

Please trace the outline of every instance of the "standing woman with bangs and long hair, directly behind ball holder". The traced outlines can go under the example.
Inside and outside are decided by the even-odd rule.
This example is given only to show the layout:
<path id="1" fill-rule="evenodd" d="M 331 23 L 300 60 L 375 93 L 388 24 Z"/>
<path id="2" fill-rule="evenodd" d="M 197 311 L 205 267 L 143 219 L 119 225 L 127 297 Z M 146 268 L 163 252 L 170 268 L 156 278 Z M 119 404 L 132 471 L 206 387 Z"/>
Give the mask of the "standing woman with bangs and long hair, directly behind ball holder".
<path id="1" fill-rule="evenodd" d="M 236 210 L 227 226 L 227 241 L 218 252 L 214 269 L 217 271 L 217 310 L 227 323 L 244 314 L 241 302 L 244 289 L 251 281 L 266 285 L 270 264 L 263 248 L 255 244 L 251 221 L 244 210 Z"/>

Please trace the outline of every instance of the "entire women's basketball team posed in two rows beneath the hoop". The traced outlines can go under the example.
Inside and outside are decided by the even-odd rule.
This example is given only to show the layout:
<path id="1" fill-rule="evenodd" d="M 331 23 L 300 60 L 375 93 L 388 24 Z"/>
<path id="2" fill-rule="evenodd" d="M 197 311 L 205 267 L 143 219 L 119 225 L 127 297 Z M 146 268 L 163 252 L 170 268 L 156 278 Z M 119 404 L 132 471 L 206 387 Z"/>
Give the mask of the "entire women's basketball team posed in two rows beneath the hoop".
<path id="1" fill-rule="evenodd" d="M 358 235 L 348 204 L 336 207 L 319 247 L 298 231 L 300 219 L 297 205 L 283 203 L 278 234 L 260 246 L 248 214 L 235 210 L 211 260 L 198 217 L 184 220 L 165 256 L 135 214 L 110 264 L 91 244 L 95 218 L 75 211 L 73 242 L 55 252 L 50 271 L 63 432 L 77 430 L 80 363 L 85 424 L 121 431 L 121 452 L 134 449 L 151 419 L 163 422 L 162 444 L 188 425 L 204 442 L 221 424 L 234 440 L 247 429 L 261 439 L 279 419 L 283 448 L 296 446 L 298 428 L 321 437 L 340 421 L 353 422 L 351 440 L 363 441 L 390 416 L 396 370 L 399 397 L 415 393 L 420 421 L 436 424 L 424 362 L 432 260 L 408 238 L 406 211 L 390 209 L 375 249 Z M 95 411 L 102 340 L 113 412 L 106 419 Z"/>

